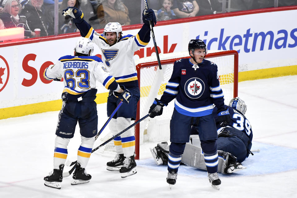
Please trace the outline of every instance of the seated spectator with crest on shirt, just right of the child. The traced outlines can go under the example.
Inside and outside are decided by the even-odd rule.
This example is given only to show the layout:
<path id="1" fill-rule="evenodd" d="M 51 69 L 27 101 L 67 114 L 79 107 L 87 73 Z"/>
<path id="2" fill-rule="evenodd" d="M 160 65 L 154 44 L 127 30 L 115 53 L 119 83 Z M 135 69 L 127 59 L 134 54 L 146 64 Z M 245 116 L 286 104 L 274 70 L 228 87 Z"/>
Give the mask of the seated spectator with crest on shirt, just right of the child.
<path id="1" fill-rule="evenodd" d="M 172 10 L 178 18 L 193 17 L 199 12 L 199 6 L 195 0 L 174 0 Z"/>

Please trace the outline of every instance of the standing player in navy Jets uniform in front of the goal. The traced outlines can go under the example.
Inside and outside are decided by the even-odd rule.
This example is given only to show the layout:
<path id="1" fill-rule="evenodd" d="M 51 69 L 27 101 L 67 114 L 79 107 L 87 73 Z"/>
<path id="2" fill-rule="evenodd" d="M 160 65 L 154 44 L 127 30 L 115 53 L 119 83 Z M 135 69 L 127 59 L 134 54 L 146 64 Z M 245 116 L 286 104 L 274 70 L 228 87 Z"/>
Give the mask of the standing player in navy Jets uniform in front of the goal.
<path id="1" fill-rule="evenodd" d="M 217 129 L 213 118 L 213 104 L 217 106 L 218 121 L 222 127 L 230 122 L 224 107 L 224 95 L 217 76 L 217 65 L 205 60 L 207 48 L 203 41 L 191 40 L 188 45 L 191 58 L 174 62 L 173 72 L 161 99 L 150 107 L 151 118 L 161 115 L 163 106 L 174 98 L 174 111 L 170 120 L 170 149 L 167 183 L 176 183 L 181 155 L 189 141 L 192 125 L 199 129 L 201 147 L 211 185 L 218 189 Z"/>

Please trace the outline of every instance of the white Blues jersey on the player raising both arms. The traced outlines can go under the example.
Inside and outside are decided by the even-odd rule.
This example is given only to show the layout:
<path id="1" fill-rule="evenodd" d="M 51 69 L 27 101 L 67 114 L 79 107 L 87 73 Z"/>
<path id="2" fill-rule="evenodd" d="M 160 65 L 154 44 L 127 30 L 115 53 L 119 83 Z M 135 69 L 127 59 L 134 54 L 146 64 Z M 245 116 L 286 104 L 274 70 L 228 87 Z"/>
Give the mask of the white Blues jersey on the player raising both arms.
<path id="1" fill-rule="evenodd" d="M 112 46 L 108 44 L 102 34 L 95 32 L 85 21 L 75 25 L 80 29 L 82 37 L 91 39 L 100 47 L 103 63 L 118 84 L 124 85 L 126 88 L 138 87 L 133 56 L 135 51 L 149 43 L 150 28 L 148 25 L 144 24 L 136 36 L 123 36 Z"/>

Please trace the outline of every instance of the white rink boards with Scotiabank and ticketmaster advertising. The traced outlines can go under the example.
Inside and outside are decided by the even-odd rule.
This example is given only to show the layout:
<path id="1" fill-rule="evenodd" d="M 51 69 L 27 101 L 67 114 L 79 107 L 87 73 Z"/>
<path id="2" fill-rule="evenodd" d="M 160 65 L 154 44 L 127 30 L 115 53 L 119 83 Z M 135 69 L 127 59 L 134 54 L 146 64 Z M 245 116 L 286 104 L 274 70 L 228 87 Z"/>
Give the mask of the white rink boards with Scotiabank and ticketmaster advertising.
<path id="1" fill-rule="evenodd" d="M 297 10 L 274 11 L 156 26 L 154 32 L 162 54 L 187 51 L 190 39 L 199 38 L 210 50 L 236 50 L 239 72 L 251 71 L 297 65 L 296 17 Z M 63 83 L 45 80 L 43 72 L 61 56 L 72 55 L 77 39 L 0 47 L 0 108 L 60 99 Z M 100 55 L 101 50 L 94 47 L 93 55 Z M 151 39 L 134 58 L 154 54 Z M 98 93 L 104 92 L 107 90 L 98 84 Z"/>

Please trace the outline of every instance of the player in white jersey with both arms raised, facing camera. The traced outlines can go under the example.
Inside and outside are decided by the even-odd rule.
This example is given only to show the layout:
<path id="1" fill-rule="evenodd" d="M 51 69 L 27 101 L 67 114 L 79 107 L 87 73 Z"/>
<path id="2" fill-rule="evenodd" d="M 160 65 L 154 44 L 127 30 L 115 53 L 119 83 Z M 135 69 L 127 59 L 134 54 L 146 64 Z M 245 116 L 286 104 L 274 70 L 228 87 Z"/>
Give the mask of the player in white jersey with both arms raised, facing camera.
<path id="1" fill-rule="evenodd" d="M 144 25 L 136 36 L 123 36 L 122 27 L 118 22 L 106 24 L 103 34 L 99 34 L 84 20 L 84 14 L 75 7 L 68 7 L 63 10 L 63 15 L 73 17 L 73 22 L 80 30 L 81 36 L 90 38 L 99 46 L 106 69 L 114 76 L 118 84 L 124 85 L 133 94 L 130 103 L 128 105 L 123 104 L 110 120 L 110 131 L 112 135 L 116 135 L 127 128 L 131 120 L 136 119 L 140 90 L 133 56 L 135 51 L 148 45 L 150 41 L 149 21 L 152 21 L 152 26 L 156 24 L 154 11 L 152 9 L 144 10 L 142 18 Z M 113 95 L 108 97 L 108 116 L 112 114 L 118 103 L 118 98 Z M 122 178 L 136 174 L 134 131 L 128 130 L 120 137 L 115 138 L 114 145 L 117 155 L 113 161 L 107 163 L 107 170 L 119 170 Z"/>

